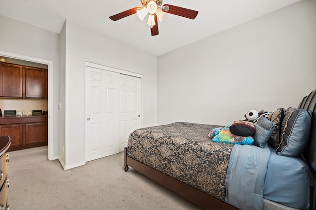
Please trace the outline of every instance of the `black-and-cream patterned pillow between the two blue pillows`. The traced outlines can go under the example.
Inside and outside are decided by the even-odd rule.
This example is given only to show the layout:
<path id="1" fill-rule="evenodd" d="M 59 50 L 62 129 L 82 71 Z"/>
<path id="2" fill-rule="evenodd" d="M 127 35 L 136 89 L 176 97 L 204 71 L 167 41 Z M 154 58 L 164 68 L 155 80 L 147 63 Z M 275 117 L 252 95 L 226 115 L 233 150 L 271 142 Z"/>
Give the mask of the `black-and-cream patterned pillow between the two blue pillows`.
<path id="1" fill-rule="evenodd" d="M 284 118 L 284 108 L 278 108 L 271 114 L 271 121 L 274 122 L 275 129 L 273 130 L 269 143 L 272 144 L 275 148 L 280 144 L 280 135 L 281 135 L 281 124 Z"/>

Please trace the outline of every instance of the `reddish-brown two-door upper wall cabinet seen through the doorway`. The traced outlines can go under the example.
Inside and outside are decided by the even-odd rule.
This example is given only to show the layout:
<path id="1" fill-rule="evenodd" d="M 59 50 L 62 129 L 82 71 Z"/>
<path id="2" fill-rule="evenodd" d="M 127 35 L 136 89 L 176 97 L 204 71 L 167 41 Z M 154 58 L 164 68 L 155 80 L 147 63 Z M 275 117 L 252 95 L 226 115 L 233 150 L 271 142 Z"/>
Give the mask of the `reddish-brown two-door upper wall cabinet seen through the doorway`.
<path id="1" fill-rule="evenodd" d="M 0 63 L 0 97 L 47 98 L 47 70 Z"/>

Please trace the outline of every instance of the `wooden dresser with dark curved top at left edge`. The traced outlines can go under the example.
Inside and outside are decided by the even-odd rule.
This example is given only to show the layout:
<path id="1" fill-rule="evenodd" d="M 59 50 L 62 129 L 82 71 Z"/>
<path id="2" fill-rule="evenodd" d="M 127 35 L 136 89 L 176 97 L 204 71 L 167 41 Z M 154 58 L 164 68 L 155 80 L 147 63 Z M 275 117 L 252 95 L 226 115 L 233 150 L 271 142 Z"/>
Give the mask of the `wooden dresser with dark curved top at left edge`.
<path id="1" fill-rule="evenodd" d="M 7 162 L 9 162 L 9 155 L 6 154 L 10 144 L 11 140 L 9 136 L 0 136 L 0 210 L 10 209 L 7 204 L 7 188 L 9 187 Z"/>

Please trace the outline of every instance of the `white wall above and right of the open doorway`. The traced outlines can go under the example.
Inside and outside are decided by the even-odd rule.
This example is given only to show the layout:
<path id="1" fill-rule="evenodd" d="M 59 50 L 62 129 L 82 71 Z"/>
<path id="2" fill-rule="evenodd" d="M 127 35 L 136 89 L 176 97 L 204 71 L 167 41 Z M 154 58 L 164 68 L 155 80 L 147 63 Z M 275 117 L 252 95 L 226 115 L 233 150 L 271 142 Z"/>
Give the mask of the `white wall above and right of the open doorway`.
<path id="1" fill-rule="evenodd" d="M 53 157 L 58 157 L 58 34 L 0 15 L 0 51 L 53 62 Z M 0 55 L 1 56 L 1 55 Z"/>

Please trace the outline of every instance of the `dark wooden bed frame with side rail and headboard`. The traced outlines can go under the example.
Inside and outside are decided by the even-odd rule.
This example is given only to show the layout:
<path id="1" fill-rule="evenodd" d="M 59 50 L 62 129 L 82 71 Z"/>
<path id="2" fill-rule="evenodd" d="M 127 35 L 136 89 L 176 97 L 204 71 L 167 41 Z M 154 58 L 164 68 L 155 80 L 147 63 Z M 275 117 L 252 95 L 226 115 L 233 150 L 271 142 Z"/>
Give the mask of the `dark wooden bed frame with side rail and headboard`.
<path id="1" fill-rule="evenodd" d="M 315 180 L 314 186 L 310 186 L 310 210 L 316 210 L 316 90 L 309 96 L 304 97 L 299 108 L 310 110 L 313 114 L 311 134 L 306 151 L 302 154 L 305 162 L 310 168 L 312 180 Z M 127 147 L 124 148 L 124 170 L 127 172 L 128 167 L 132 167 L 139 173 L 151 178 L 160 185 L 168 188 L 176 194 L 191 201 L 203 209 L 212 210 L 237 210 L 237 208 L 212 197 L 194 187 L 191 187 L 169 175 L 165 175 L 139 161 L 127 156 Z"/>

